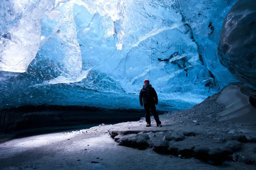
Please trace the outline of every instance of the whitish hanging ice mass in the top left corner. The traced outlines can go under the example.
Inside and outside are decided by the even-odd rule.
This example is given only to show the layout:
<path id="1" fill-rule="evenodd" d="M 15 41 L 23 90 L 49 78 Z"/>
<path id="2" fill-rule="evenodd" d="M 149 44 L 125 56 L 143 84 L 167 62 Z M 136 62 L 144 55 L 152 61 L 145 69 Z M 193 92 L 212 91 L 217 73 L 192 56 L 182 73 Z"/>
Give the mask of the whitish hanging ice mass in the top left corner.
<path id="1" fill-rule="evenodd" d="M 26 71 L 38 51 L 41 20 L 52 1 L 0 1 L 0 71 Z"/>

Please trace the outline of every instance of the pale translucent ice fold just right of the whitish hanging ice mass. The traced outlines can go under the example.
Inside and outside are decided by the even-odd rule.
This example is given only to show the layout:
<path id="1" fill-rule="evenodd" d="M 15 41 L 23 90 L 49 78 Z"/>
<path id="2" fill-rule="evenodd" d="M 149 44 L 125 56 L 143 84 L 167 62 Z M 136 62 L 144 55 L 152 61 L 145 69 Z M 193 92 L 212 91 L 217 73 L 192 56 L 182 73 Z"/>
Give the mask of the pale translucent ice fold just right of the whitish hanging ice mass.
<path id="1" fill-rule="evenodd" d="M 53 11 L 46 12 L 42 21 L 43 40 L 38 55 L 41 60 L 61 66 L 54 68 L 58 70 L 59 75 L 50 80 L 50 84 L 73 83 L 83 74 L 81 49 L 73 14 L 73 3 L 67 2 Z"/>

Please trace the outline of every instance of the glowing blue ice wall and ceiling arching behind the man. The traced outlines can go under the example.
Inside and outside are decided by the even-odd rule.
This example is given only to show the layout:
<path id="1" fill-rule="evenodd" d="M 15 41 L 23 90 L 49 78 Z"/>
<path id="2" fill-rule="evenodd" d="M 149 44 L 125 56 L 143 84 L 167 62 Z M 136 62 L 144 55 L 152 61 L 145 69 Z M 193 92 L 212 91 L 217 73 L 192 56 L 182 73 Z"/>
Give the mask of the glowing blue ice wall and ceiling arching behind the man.
<path id="1" fill-rule="evenodd" d="M 237 81 L 218 59 L 236 0 L 2 0 L 0 109 L 139 108 L 149 79 L 159 109 L 187 108 Z"/>

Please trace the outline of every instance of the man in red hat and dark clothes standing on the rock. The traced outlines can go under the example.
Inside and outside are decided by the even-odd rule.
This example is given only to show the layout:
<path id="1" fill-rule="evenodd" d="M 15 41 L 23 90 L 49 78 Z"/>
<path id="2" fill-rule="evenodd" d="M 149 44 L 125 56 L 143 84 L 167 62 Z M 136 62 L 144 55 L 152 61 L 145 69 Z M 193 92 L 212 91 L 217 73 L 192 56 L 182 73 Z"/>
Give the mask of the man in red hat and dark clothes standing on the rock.
<path id="1" fill-rule="evenodd" d="M 141 107 L 143 107 L 143 104 L 144 104 L 144 109 L 146 111 L 145 118 L 147 122 L 146 127 L 151 127 L 150 110 L 153 113 L 153 117 L 155 118 L 155 122 L 157 123 L 157 126 L 162 127 L 161 121 L 159 121 L 159 116 L 155 108 L 155 105 L 158 104 L 157 93 L 155 92 L 155 89 L 152 87 L 152 85 L 149 84 L 148 79 L 145 79 L 143 88 L 139 93 L 139 103 Z"/>

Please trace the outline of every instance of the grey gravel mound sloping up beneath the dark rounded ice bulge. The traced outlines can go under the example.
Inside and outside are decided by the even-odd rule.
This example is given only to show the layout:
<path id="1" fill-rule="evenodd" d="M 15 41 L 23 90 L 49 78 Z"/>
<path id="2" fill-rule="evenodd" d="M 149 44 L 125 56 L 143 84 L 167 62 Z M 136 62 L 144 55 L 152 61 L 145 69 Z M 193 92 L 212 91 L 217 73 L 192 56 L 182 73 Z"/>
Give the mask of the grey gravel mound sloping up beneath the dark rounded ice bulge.
<path id="1" fill-rule="evenodd" d="M 240 121 L 240 118 L 242 120 L 243 117 L 252 117 L 252 113 L 256 113 L 253 105 L 256 102 L 252 98 L 252 94 L 256 94 L 256 90 L 251 89 L 246 84 L 230 83 L 218 93 L 209 96 L 202 103 L 190 109 L 171 112 L 171 115 L 175 115 L 175 117 L 169 121 L 178 121 L 181 124 L 192 121 L 198 125 L 205 121 L 216 123 L 220 121 L 220 117 L 227 117 L 227 115 L 230 115 L 228 119 L 238 117 L 237 121 Z M 164 115 L 164 119 L 169 119 L 168 113 Z"/>

